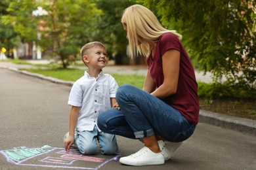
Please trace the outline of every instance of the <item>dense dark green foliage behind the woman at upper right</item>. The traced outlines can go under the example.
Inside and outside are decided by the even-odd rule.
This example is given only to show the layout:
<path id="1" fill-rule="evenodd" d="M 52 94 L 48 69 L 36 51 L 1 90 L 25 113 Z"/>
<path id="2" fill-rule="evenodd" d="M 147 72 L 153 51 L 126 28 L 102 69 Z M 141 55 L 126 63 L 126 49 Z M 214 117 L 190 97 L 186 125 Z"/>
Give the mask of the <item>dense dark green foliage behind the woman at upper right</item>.
<path id="1" fill-rule="evenodd" d="M 197 59 L 199 69 L 211 71 L 215 82 L 256 88 L 255 0 L 146 0 L 157 9 L 165 27 L 177 29 Z"/>

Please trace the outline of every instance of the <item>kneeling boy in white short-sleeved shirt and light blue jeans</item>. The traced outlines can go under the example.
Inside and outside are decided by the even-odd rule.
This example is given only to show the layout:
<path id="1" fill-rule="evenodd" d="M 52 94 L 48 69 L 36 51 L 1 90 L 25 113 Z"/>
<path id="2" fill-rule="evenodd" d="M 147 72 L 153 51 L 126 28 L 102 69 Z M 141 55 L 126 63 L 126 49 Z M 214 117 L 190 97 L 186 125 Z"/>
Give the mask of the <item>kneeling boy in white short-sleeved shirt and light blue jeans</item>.
<path id="1" fill-rule="evenodd" d="M 88 67 L 70 92 L 70 131 L 64 137 L 66 151 L 76 145 L 82 154 L 95 154 L 97 143 L 101 154 L 116 154 L 116 136 L 104 133 L 96 124 L 98 115 L 115 107 L 116 80 L 102 69 L 106 66 L 106 47 L 101 42 L 89 42 L 81 48 L 81 58 Z"/>

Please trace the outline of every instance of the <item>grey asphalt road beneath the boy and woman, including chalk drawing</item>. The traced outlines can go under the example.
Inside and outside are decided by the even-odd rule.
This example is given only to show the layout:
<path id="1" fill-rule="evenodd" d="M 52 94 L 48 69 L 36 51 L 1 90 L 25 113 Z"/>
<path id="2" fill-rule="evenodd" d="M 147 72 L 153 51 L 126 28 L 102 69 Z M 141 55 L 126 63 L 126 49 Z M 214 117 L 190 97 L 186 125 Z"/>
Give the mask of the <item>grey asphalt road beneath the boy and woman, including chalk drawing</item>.
<path id="1" fill-rule="evenodd" d="M 256 169 L 256 137 L 199 123 L 164 165 L 131 167 L 115 161 L 142 147 L 117 137 L 119 154 L 64 152 L 70 86 L 0 69 L 0 169 Z M 49 145 L 52 148 L 42 149 Z"/>

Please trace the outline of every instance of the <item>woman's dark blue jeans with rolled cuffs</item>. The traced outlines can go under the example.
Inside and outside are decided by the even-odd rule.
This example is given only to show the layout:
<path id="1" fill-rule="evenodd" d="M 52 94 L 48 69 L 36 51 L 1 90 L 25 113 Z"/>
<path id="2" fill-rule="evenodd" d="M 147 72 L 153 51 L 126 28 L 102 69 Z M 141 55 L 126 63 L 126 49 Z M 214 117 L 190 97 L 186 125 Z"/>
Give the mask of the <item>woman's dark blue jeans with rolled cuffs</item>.
<path id="1" fill-rule="evenodd" d="M 179 110 L 139 88 L 122 85 L 116 99 L 121 110 L 106 110 L 98 116 L 98 127 L 106 133 L 131 139 L 157 133 L 166 141 L 177 143 L 188 139 L 196 128 Z"/>

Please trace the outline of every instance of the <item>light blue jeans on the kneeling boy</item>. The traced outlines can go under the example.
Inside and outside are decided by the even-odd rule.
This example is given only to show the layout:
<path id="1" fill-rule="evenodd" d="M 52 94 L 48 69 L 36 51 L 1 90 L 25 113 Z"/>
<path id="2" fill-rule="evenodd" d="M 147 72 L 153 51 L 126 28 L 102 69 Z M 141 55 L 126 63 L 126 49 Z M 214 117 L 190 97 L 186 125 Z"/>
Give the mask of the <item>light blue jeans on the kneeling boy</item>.
<path id="1" fill-rule="evenodd" d="M 96 139 L 100 145 L 101 154 L 116 154 L 118 149 L 116 136 L 103 131 L 99 132 L 96 126 L 93 131 L 77 131 L 75 144 L 82 154 L 96 154 Z"/>

